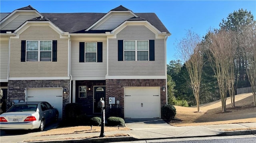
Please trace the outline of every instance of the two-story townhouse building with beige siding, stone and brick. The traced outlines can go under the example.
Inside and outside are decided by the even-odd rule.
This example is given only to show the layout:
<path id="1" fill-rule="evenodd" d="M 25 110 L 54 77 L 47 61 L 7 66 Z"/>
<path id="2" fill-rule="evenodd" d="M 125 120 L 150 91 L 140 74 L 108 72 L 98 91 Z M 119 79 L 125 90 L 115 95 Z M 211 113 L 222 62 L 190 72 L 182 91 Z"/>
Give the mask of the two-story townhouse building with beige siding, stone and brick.
<path id="1" fill-rule="evenodd" d="M 60 118 L 68 103 L 92 115 L 104 97 L 106 116 L 119 109 L 123 118 L 161 118 L 170 32 L 156 14 L 124 6 L 108 13 L 40 13 L 26 6 L 0 17 L 7 109 L 45 100 Z"/>

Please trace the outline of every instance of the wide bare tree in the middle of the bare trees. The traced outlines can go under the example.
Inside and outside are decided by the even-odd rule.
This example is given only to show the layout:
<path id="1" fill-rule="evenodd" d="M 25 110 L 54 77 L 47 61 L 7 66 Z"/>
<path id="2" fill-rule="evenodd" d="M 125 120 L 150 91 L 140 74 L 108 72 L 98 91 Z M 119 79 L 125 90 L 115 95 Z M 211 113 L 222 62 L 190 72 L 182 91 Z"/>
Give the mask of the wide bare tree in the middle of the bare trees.
<path id="1" fill-rule="evenodd" d="M 228 87 L 231 86 L 233 75 L 231 74 L 234 65 L 234 45 L 236 45 L 232 31 L 220 29 L 208 33 L 208 57 L 216 75 L 222 101 L 222 112 L 226 112 L 226 98 Z"/>

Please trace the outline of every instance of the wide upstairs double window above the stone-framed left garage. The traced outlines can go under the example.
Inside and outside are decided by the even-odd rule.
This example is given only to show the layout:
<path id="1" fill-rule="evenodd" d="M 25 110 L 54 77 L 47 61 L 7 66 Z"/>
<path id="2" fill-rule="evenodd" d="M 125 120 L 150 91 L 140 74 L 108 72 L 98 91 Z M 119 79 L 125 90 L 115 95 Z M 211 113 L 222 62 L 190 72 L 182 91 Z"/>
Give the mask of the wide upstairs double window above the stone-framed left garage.
<path id="1" fill-rule="evenodd" d="M 52 61 L 52 41 L 26 41 L 26 61 Z"/>

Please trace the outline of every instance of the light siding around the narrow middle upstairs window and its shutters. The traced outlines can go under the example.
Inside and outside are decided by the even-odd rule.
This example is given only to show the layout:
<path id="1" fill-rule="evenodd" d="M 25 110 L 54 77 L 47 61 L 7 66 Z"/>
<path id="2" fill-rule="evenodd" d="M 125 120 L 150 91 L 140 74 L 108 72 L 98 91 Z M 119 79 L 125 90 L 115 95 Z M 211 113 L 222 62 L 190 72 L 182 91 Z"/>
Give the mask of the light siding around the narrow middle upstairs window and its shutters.
<path id="1" fill-rule="evenodd" d="M 102 42 L 102 63 L 79 62 L 79 42 Z M 73 77 L 103 77 L 107 73 L 107 41 L 97 40 L 72 40 L 71 41 L 71 75 Z"/>

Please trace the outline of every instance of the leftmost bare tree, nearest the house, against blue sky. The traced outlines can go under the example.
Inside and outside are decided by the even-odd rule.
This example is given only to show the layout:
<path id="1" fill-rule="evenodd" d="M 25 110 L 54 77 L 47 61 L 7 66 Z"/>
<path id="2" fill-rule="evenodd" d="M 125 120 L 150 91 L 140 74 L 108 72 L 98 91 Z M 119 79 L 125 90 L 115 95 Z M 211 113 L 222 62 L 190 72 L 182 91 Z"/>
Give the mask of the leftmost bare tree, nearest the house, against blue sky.
<path id="1" fill-rule="evenodd" d="M 190 77 L 190 86 L 192 87 L 196 99 L 197 111 L 200 105 L 200 82 L 203 67 L 203 55 L 200 46 L 200 36 L 191 30 L 187 31 L 186 37 L 180 40 L 176 48 L 178 57 L 184 62 Z"/>

